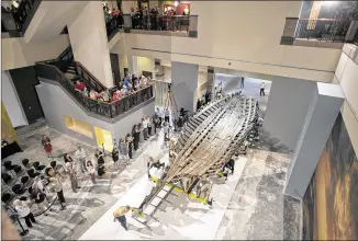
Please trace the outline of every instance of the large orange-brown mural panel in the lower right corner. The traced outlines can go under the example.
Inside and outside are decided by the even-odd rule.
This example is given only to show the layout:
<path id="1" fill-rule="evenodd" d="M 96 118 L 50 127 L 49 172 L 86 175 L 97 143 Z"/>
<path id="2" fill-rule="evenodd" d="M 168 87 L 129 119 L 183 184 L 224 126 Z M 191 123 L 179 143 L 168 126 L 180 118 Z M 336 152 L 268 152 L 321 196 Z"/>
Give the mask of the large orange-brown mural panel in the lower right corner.
<path id="1" fill-rule="evenodd" d="M 302 200 L 303 239 L 358 239 L 357 183 L 357 153 L 339 114 Z"/>

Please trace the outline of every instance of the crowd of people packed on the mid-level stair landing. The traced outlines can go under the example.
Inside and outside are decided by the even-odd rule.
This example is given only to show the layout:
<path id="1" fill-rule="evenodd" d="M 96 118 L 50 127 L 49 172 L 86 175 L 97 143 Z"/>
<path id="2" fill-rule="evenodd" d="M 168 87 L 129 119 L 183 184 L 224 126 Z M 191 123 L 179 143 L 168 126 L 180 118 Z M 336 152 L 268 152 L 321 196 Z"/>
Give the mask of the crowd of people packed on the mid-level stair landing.
<path id="1" fill-rule="evenodd" d="M 148 87 L 150 79 L 141 76 L 141 78 L 137 78 L 134 74 L 127 74 L 115 88 L 113 89 L 105 89 L 101 93 L 98 93 L 93 89 L 89 89 L 86 83 L 81 80 L 76 81 L 75 83 L 75 90 L 78 92 L 81 92 L 85 96 L 99 101 L 99 102 L 115 102 L 118 100 L 121 100 L 122 97 L 125 97 L 126 95 L 130 95 L 143 88 Z"/>

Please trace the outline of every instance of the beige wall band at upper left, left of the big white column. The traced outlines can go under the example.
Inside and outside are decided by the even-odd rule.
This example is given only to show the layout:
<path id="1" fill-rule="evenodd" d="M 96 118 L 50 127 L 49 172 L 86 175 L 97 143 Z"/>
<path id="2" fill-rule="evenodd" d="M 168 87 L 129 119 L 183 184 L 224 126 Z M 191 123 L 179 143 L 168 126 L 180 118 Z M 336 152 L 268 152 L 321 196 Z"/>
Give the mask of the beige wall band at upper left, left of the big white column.
<path id="1" fill-rule="evenodd" d="M 60 35 L 49 42 L 25 43 L 24 38 L 2 38 L 2 70 L 33 66 L 36 61 L 57 58 L 69 45 L 68 36 Z"/>

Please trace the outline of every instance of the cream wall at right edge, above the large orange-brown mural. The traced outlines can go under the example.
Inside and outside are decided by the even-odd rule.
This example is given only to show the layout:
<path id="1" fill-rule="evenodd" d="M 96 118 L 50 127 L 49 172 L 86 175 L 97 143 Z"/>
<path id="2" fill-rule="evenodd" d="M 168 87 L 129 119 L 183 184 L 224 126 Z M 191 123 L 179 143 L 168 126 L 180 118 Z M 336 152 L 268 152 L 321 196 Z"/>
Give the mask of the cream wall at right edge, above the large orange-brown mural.
<path id="1" fill-rule="evenodd" d="M 335 72 L 335 81 L 340 84 L 346 101 L 342 107 L 348 135 L 358 153 L 358 47 L 346 44 Z"/>

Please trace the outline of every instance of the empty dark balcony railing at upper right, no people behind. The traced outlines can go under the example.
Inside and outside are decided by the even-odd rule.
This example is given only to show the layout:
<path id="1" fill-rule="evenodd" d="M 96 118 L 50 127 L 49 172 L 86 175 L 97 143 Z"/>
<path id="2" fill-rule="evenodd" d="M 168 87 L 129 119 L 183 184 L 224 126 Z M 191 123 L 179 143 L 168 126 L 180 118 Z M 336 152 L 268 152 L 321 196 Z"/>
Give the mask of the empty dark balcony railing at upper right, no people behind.
<path id="1" fill-rule="evenodd" d="M 345 42 L 349 20 L 298 20 L 294 38 L 317 39 L 326 42 Z"/>

